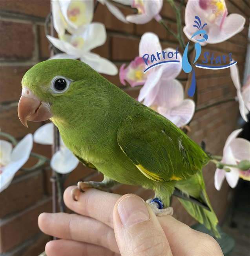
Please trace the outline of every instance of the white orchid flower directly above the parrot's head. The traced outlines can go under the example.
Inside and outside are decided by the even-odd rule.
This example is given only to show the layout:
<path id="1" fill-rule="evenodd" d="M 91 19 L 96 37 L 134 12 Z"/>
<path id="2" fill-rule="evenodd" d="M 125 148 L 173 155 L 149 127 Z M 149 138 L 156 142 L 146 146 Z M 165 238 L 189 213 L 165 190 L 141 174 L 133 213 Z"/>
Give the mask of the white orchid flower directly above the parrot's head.
<path id="1" fill-rule="evenodd" d="M 106 41 L 105 26 L 99 22 L 89 24 L 88 28 L 80 35 L 59 35 L 59 38 L 47 35 L 49 41 L 59 50 L 66 52 L 56 54 L 50 59 L 80 59 L 99 73 L 116 75 L 118 69 L 108 59 L 90 52 L 97 46 L 103 45 Z"/>

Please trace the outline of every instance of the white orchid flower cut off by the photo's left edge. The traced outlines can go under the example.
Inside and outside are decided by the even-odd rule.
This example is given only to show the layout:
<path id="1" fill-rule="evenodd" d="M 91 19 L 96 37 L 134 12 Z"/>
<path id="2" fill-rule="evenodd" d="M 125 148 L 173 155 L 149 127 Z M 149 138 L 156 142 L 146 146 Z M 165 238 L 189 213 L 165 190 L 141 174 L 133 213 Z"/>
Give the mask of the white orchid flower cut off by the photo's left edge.
<path id="1" fill-rule="evenodd" d="M 11 184 L 15 173 L 27 162 L 32 147 L 32 134 L 27 134 L 14 149 L 10 142 L 0 140 L 0 192 Z"/>

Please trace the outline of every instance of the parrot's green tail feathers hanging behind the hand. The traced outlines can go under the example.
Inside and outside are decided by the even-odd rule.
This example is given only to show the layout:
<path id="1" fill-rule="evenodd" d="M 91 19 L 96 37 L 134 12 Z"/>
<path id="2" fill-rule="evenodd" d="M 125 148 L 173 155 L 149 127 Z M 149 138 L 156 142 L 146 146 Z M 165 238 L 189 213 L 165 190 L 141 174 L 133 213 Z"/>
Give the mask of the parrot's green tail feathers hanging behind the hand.
<path id="1" fill-rule="evenodd" d="M 214 210 L 209 202 L 206 191 L 203 189 L 202 195 L 205 198 L 207 205 L 209 206 L 211 211 L 206 210 L 205 208 L 194 204 L 190 201 L 178 198 L 184 208 L 188 211 L 188 213 L 199 223 L 203 224 L 206 228 L 211 230 L 216 238 L 221 238 L 219 231 L 217 230 L 218 219 L 214 213 Z"/>

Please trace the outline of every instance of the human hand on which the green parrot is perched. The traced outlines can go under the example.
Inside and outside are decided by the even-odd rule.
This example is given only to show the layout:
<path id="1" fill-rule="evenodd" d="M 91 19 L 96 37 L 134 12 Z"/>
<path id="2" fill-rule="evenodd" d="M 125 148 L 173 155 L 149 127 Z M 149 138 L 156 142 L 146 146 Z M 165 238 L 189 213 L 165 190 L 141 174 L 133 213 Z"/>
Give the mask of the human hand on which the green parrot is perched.
<path id="1" fill-rule="evenodd" d="M 172 216 L 156 217 L 140 197 L 86 189 L 78 201 L 64 192 L 68 208 L 79 213 L 41 213 L 42 232 L 62 238 L 45 250 L 55 255 L 223 255 L 211 236 Z"/>

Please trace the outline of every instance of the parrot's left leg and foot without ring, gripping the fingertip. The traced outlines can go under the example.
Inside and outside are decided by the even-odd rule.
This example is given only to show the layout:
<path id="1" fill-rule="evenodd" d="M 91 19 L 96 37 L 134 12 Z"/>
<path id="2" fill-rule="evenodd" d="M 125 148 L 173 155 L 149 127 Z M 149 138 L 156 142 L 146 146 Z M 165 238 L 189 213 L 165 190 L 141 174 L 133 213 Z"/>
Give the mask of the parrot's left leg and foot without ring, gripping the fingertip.
<path id="1" fill-rule="evenodd" d="M 112 180 L 104 175 L 104 179 L 102 182 L 95 182 L 95 181 L 79 181 L 77 183 L 77 187 L 71 190 L 71 195 L 73 197 L 73 200 L 77 201 L 77 196 L 79 192 L 84 192 L 85 188 L 95 188 L 102 191 L 107 191 L 107 189 L 110 189 L 111 187 L 114 187 L 115 185 L 119 184 L 119 182 Z"/>

